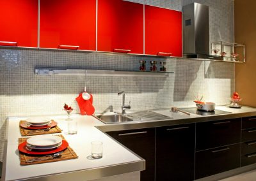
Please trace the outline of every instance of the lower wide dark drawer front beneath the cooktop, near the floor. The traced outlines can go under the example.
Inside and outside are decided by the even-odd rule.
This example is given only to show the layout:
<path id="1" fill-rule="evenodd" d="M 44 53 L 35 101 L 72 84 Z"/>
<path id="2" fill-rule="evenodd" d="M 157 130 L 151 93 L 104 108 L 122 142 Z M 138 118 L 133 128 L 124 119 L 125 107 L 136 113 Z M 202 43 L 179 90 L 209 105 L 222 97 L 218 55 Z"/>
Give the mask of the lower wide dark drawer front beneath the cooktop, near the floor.
<path id="1" fill-rule="evenodd" d="M 195 179 L 238 168 L 240 143 L 196 152 Z"/>

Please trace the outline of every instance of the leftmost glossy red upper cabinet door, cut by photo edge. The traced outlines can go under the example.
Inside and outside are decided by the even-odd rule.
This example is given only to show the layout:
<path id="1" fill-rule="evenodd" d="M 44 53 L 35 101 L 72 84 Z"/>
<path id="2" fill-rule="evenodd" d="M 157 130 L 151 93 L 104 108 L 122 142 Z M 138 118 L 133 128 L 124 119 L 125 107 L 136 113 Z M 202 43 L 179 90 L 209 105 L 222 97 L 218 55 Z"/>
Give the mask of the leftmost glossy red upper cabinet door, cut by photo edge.
<path id="1" fill-rule="evenodd" d="M 0 46 L 37 47 L 38 0 L 0 1 Z"/>

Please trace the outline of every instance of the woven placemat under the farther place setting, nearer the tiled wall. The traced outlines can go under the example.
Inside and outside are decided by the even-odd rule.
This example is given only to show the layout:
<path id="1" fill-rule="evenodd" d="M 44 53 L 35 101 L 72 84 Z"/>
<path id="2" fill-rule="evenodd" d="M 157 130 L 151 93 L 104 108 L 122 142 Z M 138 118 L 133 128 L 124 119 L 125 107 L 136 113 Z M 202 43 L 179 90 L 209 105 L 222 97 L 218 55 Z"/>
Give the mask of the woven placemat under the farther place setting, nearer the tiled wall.
<path id="1" fill-rule="evenodd" d="M 20 120 L 20 124 L 26 122 L 26 120 Z M 20 126 L 20 134 L 21 136 L 33 136 L 39 134 L 53 134 L 53 133 L 61 133 L 61 129 L 58 126 L 51 127 L 49 131 L 37 130 L 37 129 L 26 129 Z"/>

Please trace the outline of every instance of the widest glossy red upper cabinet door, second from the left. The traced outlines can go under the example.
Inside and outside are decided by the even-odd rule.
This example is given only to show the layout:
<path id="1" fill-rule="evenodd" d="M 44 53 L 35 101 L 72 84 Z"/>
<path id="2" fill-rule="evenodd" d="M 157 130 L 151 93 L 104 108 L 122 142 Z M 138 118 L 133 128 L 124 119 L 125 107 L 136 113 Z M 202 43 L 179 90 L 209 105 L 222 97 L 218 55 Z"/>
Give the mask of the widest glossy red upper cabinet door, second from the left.
<path id="1" fill-rule="evenodd" d="M 96 50 L 96 0 L 40 0 L 40 47 Z"/>

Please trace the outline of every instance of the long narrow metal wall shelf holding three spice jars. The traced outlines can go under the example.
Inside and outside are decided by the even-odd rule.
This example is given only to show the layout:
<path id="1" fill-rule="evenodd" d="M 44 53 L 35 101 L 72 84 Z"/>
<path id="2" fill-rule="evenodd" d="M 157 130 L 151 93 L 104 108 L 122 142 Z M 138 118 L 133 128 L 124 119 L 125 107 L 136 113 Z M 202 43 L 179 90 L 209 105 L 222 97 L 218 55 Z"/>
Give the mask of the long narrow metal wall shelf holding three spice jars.
<path id="1" fill-rule="evenodd" d="M 52 75 L 88 75 L 88 76 L 157 76 L 167 77 L 173 72 L 151 72 L 151 71 L 115 71 L 98 69 L 54 69 L 35 68 L 35 74 L 40 76 Z"/>

